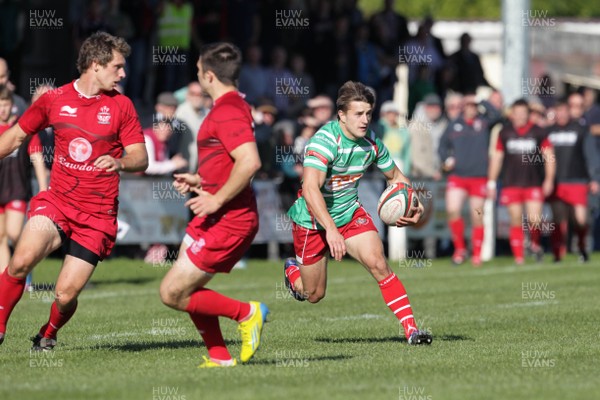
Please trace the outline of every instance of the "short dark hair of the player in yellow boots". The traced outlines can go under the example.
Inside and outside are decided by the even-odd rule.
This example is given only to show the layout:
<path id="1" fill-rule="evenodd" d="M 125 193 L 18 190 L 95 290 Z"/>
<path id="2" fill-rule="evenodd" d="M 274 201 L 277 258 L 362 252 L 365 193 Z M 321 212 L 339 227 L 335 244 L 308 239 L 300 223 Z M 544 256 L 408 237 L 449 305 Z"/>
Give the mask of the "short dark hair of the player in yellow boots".
<path id="1" fill-rule="evenodd" d="M 204 72 L 211 71 L 221 83 L 237 86 L 242 53 L 234 44 L 219 42 L 202 46 L 200 63 Z"/>

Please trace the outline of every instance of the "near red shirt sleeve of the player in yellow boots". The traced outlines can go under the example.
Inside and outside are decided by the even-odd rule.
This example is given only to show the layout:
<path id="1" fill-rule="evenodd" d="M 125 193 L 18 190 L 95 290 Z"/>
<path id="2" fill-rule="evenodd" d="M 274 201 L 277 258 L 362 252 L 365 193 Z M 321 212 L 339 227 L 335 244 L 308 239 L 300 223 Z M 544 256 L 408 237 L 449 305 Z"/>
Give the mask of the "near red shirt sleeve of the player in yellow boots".
<path id="1" fill-rule="evenodd" d="M 249 114 L 246 115 L 244 110 L 233 106 L 222 107 L 219 111 L 221 112 L 213 120 L 219 121 L 217 136 L 228 153 L 244 143 L 255 141 Z"/>

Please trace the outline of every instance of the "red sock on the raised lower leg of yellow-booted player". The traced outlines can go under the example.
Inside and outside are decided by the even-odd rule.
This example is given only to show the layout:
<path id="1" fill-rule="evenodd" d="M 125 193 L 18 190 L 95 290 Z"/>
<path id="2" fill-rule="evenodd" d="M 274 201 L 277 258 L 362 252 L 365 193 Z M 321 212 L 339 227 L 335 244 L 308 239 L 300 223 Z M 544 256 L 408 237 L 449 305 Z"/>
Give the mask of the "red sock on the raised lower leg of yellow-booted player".
<path id="1" fill-rule="evenodd" d="M 206 288 L 201 288 L 194 292 L 186 308 L 186 311 L 190 315 L 223 316 L 237 322 L 245 319 L 250 314 L 250 310 L 250 303 L 234 300 Z"/>

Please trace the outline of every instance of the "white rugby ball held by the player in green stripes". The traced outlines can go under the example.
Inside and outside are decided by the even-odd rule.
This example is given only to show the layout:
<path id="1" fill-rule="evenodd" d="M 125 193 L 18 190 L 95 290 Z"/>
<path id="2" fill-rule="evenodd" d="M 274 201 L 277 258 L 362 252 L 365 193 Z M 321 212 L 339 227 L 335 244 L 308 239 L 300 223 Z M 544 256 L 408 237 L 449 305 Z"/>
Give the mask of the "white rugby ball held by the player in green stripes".
<path id="1" fill-rule="evenodd" d="M 377 214 L 389 226 L 396 226 L 400 217 L 412 216 L 413 207 L 419 205 L 419 200 L 409 184 L 392 183 L 379 197 Z"/>

